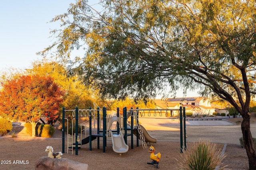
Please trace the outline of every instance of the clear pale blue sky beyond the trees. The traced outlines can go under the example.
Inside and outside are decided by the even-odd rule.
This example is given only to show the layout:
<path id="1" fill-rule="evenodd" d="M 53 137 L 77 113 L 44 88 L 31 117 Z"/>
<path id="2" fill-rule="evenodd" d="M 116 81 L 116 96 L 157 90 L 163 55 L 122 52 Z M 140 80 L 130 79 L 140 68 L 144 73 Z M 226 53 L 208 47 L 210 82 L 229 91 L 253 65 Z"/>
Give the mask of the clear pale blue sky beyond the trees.
<path id="1" fill-rule="evenodd" d="M 98 0 L 89 0 L 95 4 Z M 12 0 L 0 5 L 0 70 L 30 68 L 36 55 L 53 43 L 50 30 L 60 23 L 50 23 L 56 15 L 65 13 L 74 0 Z M 177 97 L 182 97 L 182 92 Z M 189 92 L 187 96 L 198 96 Z"/>

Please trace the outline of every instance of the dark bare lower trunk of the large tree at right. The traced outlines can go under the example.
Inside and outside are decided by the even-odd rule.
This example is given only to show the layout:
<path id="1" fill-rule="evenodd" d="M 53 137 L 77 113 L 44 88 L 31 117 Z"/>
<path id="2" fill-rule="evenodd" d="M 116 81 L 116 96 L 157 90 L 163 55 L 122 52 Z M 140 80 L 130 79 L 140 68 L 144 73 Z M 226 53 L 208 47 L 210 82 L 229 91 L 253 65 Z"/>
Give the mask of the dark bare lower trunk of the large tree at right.
<path id="1" fill-rule="evenodd" d="M 249 160 L 249 168 L 250 170 L 256 170 L 256 152 L 250 131 L 250 113 L 244 113 L 241 129 L 244 138 L 244 146 Z"/>

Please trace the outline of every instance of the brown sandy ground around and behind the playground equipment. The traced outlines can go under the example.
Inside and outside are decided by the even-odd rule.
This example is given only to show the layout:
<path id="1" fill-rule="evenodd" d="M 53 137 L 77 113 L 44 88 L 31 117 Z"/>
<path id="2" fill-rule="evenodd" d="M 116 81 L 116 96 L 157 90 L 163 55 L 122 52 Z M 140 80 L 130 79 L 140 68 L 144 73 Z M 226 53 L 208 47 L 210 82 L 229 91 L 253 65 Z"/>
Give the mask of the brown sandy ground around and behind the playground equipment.
<path id="1" fill-rule="evenodd" d="M 177 122 L 170 123 L 170 120 L 164 119 L 144 119 L 140 122 L 148 130 L 152 137 L 156 137 L 158 142 L 154 144 L 156 152 L 160 152 L 162 157 L 159 168 L 163 170 L 175 170 L 182 159 L 180 153 L 180 127 Z M 246 150 L 240 147 L 239 138 L 242 136 L 240 128 L 240 119 L 232 120 L 236 125 L 222 126 L 187 126 L 187 143 L 196 142 L 200 138 L 209 139 L 212 143 L 218 144 L 218 149 L 222 150 L 224 144 L 226 147 L 226 158 L 223 165 L 228 165 L 226 170 L 247 170 L 248 158 Z M 47 146 L 52 146 L 54 152 L 62 151 L 62 132 L 56 128 L 53 138 L 32 138 L 24 134 L 22 126 L 14 127 L 17 137 L 10 135 L 0 137 L 0 170 L 32 170 L 34 163 L 38 158 L 47 156 L 44 152 Z M 256 136 L 256 124 L 252 121 L 251 131 L 253 137 Z M 148 170 L 154 169 L 151 162 L 149 145 L 143 149 L 141 142 L 136 146 L 136 137 L 134 136 L 134 149 L 131 149 L 130 137 L 128 137 L 128 152 L 121 156 L 112 150 L 111 138 L 107 139 L 106 152 L 102 152 L 102 139 L 100 139 L 100 149 L 89 150 L 89 145 L 82 145 L 78 150 L 78 155 L 70 151 L 65 153 L 63 158 L 69 158 L 74 161 L 86 163 L 89 170 Z M 94 142 L 93 142 L 94 143 Z M 97 142 L 95 143 L 97 146 Z"/>

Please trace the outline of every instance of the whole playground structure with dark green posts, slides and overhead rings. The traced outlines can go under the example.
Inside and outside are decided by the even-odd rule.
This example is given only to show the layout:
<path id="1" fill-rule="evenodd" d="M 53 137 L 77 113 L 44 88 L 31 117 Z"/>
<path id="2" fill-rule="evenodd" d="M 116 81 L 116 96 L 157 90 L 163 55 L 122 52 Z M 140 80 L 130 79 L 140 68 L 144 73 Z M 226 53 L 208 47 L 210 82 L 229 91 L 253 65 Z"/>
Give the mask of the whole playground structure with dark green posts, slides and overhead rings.
<path id="1" fill-rule="evenodd" d="M 139 146 L 139 139 L 142 142 L 142 147 L 145 149 L 147 147 L 147 143 L 151 146 L 157 142 L 157 139 L 150 136 L 148 131 L 140 125 L 138 121 L 138 117 L 145 116 L 147 112 L 148 115 L 153 112 L 155 116 L 156 113 L 159 113 L 162 116 L 163 112 L 166 112 L 168 115 L 168 111 L 178 111 L 180 112 L 180 127 L 181 127 L 181 152 L 186 149 L 186 131 L 185 131 L 185 108 L 180 109 L 129 109 L 126 107 L 123 108 L 123 114 L 119 114 L 119 108 L 117 108 L 116 116 L 107 115 L 106 108 L 103 107 L 100 109 L 96 104 L 94 104 L 94 109 L 91 107 L 89 109 L 76 109 L 74 110 L 65 110 L 62 108 L 62 117 L 65 117 L 65 113 L 69 114 L 72 118 L 72 131 L 71 135 L 67 128 L 67 153 L 68 150 L 75 149 L 76 155 L 78 155 L 78 149 L 81 145 L 85 145 L 89 143 L 89 150 L 92 150 L 92 141 L 94 141 L 95 147 L 95 139 L 97 139 L 97 148 L 100 149 L 100 137 L 103 139 L 103 152 L 105 152 L 106 147 L 106 139 L 107 137 L 111 137 L 112 139 L 112 148 L 114 152 L 119 154 L 125 153 L 128 151 L 129 147 L 127 145 L 127 138 L 131 137 L 131 149 L 133 149 L 133 135 L 136 136 L 137 147 Z M 184 115 L 184 117 L 182 116 Z M 80 131 L 78 132 L 78 117 L 87 117 L 89 120 L 83 123 L 80 123 Z M 65 120 L 62 119 L 62 153 L 65 152 Z M 74 123 L 75 122 L 75 123 Z M 73 130 L 73 125 L 75 125 L 75 132 Z M 115 127 L 114 127 L 115 125 Z M 184 132 L 184 133 L 183 133 Z M 79 135 L 80 133 L 80 135 Z M 74 135 L 73 135 L 74 134 Z M 80 142 L 80 139 L 82 141 Z"/>

